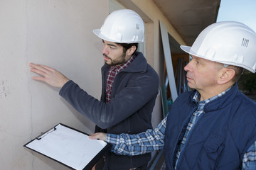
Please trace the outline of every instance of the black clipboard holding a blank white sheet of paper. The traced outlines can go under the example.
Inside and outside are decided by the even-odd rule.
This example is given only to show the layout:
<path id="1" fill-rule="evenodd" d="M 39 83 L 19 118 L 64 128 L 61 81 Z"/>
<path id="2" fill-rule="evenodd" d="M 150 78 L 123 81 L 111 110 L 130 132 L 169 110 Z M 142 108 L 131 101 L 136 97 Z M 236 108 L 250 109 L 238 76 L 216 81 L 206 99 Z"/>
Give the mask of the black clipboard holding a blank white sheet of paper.
<path id="1" fill-rule="evenodd" d="M 102 140 L 90 140 L 85 132 L 59 123 L 23 147 L 70 169 L 91 170 L 111 145 Z"/>

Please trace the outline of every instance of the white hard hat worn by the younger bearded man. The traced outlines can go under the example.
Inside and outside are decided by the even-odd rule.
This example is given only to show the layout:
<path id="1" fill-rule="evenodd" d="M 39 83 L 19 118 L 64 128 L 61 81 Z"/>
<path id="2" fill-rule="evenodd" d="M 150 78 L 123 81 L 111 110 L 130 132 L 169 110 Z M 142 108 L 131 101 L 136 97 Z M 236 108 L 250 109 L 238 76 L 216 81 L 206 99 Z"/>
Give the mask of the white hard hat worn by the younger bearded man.
<path id="1" fill-rule="evenodd" d="M 100 29 L 92 30 L 110 42 L 137 43 L 144 41 L 144 22 L 138 13 L 120 9 L 110 13 Z"/>

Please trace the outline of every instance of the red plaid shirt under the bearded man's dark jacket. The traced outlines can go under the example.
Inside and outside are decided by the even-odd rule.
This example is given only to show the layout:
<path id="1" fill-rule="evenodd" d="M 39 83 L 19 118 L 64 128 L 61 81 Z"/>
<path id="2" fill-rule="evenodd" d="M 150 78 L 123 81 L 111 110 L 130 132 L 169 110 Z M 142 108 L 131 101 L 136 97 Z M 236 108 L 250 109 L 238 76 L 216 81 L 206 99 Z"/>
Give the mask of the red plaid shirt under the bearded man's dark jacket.
<path id="1" fill-rule="evenodd" d="M 117 73 L 119 73 L 122 69 L 125 69 L 132 63 L 135 59 L 136 55 L 132 55 L 127 62 L 121 64 L 119 66 L 111 66 L 110 70 L 107 74 L 107 86 L 106 86 L 106 103 L 111 101 L 111 91 L 114 83 L 114 77 L 116 77 Z"/>

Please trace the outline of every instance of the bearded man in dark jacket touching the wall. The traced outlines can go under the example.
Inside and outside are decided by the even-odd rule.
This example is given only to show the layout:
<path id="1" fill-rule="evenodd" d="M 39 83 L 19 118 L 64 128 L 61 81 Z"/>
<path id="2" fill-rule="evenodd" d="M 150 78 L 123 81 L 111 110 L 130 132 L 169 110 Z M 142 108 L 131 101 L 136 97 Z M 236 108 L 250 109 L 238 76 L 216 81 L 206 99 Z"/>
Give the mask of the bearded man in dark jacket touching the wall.
<path id="1" fill-rule="evenodd" d="M 95 132 L 134 134 L 152 128 L 159 77 L 144 55 L 136 51 L 138 43 L 144 41 L 142 18 L 129 9 L 117 10 L 93 32 L 102 39 L 105 60 L 100 101 L 45 65 L 30 63 L 31 72 L 41 75 L 33 79 L 61 88 L 60 96 L 97 125 Z M 150 159 L 151 154 L 129 157 L 109 152 L 104 169 L 146 169 Z"/>

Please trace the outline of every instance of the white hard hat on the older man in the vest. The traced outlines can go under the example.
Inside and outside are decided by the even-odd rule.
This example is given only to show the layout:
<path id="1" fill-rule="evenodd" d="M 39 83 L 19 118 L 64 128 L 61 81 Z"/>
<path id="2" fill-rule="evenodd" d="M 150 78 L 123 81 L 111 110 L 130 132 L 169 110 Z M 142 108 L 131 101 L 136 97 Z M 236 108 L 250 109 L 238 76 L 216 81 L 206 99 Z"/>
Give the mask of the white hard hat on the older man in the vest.
<path id="1" fill-rule="evenodd" d="M 181 45 L 191 55 L 235 65 L 255 73 L 256 33 L 243 23 L 223 21 L 205 28 L 192 47 Z"/>

